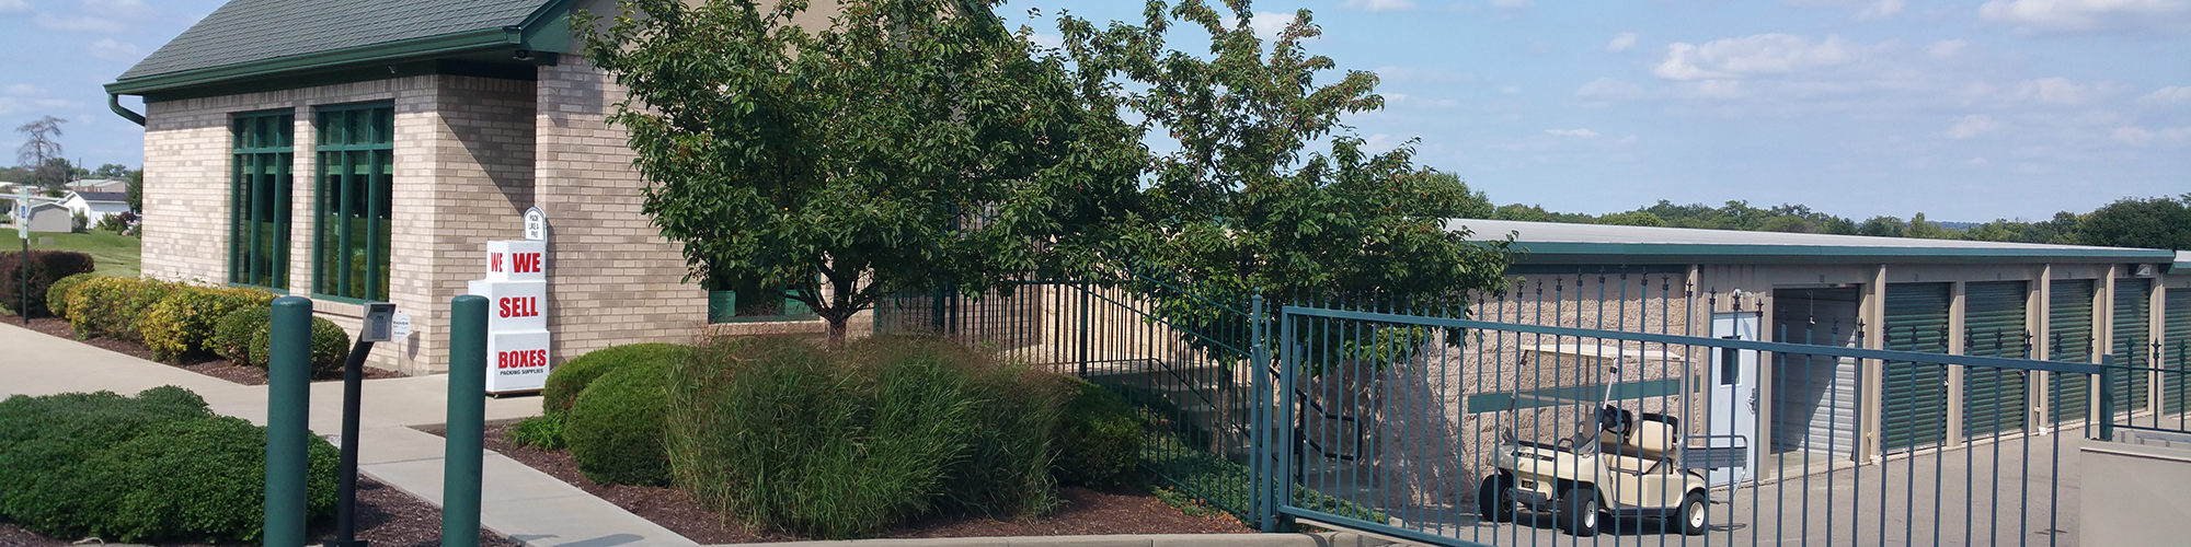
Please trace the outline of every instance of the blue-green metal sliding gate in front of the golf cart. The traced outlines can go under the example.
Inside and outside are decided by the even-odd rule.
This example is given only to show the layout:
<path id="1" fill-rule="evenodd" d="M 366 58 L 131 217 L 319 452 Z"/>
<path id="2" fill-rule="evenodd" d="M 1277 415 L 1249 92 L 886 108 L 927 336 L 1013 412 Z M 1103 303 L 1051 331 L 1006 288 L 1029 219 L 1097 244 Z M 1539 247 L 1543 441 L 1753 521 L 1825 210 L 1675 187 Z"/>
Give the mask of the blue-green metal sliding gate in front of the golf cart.
<path id="1" fill-rule="evenodd" d="M 1273 481 L 1258 488 L 1258 519 L 1433 545 L 2075 543 L 2077 523 L 2057 516 L 2075 514 L 2077 503 L 2057 455 L 2106 435 L 2106 420 L 2095 424 L 2101 431 L 1985 422 L 1954 435 L 1928 422 L 1924 431 L 1937 431 L 1930 442 L 1941 446 L 1919 451 L 1904 449 L 1904 438 L 1875 446 L 1882 440 L 1871 431 L 1911 431 L 1906 424 L 1810 422 L 1803 427 L 1849 431 L 1790 438 L 1869 435 L 1858 451 L 1867 455 L 1821 446 L 1746 459 L 1737 455 L 1762 446 L 1757 431 L 1722 424 L 1729 418 L 1713 409 L 1773 409 L 1775 379 L 1764 379 L 1757 396 L 1713 405 L 1729 389 L 1707 383 L 1740 374 L 1709 372 L 1781 363 L 1775 370 L 1805 374 L 1808 363 L 1854 361 L 1873 381 L 1961 374 L 2024 385 L 2044 372 L 2106 387 L 2121 376 L 2092 363 L 1670 335 L 1687 328 L 1624 333 L 1323 306 L 1280 306 L 1273 319 L 1277 385 L 1255 387 L 1275 398 L 1275 411 L 1264 414 L 1273 435 L 1255 442 L 1253 473 Z M 1965 389 L 1963 407 L 2029 405 L 1970 400 L 1994 394 L 2022 398 L 2024 389 Z M 2110 389 L 2097 394 L 2112 398 Z M 1310 403 L 1347 409 L 1354 424 L 1317 420 Z M 1891 400 L 1865 405 L 1867 414 L 1882 407 L 1880 418 L 1900 414 Z M 1341 459 L 1312 446 L 1358 449 Z M 1755 466 L 1742 473 L 1755 479 L 1707 486 L 1707 473 L 1731 466 Z M 1700 525 L 1685 529 L 1678 510 L 1689 497 L 1709 503 Z M 1575 508 L 1591 503 L 1580 499 L 1599 508 L 1586 529 Z"/>

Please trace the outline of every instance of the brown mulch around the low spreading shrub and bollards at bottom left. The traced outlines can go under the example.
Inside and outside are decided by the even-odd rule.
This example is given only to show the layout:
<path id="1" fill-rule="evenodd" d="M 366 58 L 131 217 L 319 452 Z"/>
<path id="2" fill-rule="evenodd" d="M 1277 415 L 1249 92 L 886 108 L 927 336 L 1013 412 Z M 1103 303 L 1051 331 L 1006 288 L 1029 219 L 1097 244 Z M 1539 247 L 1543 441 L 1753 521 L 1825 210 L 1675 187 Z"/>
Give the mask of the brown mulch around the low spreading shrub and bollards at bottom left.
<path id="1" fill-rule="evenodd" d="M 309 529 L 309 543 L 326 543 L 335 538 L 335 519 L 329 516 Z M 357 477 L 357 538 L 372 547 L 436 547 L 440 545 L 440 508 L 425 503 L 412 494 L 397 488 L 381 486 L 368 477 Z M 79 545 L 79 540 L 59 540 L 39 536 L 35 532 L 22 529 L 13 523 L 0 523 L 0 545 L 9 547 L 57 547 L 57 545 Z M 83 540 L 83 545 L 99 545 L 99 540 Z M 254 543 L 158 543 L 162 547 L 210 547 L 210 545 L 259 545 Z M 489 547 L 517 547 L 515 540 L 502 534 L 480 529 L 480 545 Z"/>

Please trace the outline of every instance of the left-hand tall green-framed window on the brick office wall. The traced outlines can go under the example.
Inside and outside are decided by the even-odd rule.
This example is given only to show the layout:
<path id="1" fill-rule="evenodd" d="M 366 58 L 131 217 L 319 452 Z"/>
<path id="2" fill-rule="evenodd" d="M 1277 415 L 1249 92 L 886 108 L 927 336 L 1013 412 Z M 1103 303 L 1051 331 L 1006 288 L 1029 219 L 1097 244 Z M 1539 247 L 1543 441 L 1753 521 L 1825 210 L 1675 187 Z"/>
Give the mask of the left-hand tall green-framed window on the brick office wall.
<path id="1" fill-rule="evenodd" d="M 296 114 L 239 114 L 228 164 L 228 282 L 289 289 L 289 160 Z"/>

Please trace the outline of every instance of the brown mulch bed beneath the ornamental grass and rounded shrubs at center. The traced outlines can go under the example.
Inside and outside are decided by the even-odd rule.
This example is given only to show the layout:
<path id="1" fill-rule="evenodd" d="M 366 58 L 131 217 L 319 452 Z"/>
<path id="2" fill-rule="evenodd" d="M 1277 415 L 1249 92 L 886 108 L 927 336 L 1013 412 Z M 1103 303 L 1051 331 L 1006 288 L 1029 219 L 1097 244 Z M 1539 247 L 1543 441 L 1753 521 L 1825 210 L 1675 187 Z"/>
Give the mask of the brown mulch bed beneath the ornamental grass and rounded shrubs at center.
<path id="1" fill-rule="evenodd" d="M 804 540 L 800 536 L 725 523 L 701 508 L 692 494 L 657 486 L 603 486 L 578 473 L 570 451 L 541 451 L 508 438 L 511 424 L 489 424 L 484 444 L 519 464 L 532 466 L 618 508 L 668 527 L 699 545 Z M 440 431 L 427 431 L 440 435 Z M 975 536 L 1082 536 L 1082 534 L 1251 534 L 1231 516 L 1190 516 L 1157 497 L 1137 490 L 1060 488 L 1065 505 L 1043 519 L 995 521 L 986 516 L 931 516 L 887 532 L 892 538 L 975 538 Z"/>

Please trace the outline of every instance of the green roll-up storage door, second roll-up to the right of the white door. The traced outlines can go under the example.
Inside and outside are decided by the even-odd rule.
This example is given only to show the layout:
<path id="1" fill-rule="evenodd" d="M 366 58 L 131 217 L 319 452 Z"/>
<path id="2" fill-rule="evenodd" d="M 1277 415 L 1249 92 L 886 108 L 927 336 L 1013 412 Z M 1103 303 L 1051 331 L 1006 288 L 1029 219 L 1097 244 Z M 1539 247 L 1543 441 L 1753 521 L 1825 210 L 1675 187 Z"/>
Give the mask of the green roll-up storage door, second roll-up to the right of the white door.
<path id="1" fill-rule="evenodd" d="M 1904 352 L 1948 352 L 1948 304 L 1954 284 L 1886 284 L 1886 348 Z M 1948 365 L 1886 363 L 1880 411 L 1882 449 L 1939 444 L 1948 429 Z"/>

